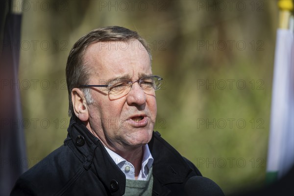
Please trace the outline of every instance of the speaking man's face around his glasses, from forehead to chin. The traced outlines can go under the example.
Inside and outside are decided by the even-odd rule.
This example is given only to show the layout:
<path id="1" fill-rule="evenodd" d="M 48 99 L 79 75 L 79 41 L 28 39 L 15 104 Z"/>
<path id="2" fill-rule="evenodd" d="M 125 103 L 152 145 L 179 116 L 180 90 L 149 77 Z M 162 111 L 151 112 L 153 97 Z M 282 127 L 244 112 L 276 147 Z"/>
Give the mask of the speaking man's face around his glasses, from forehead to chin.
<path id="1" fill-rule="evenodd" d="M 114 78 L 137 80 L 152 74 L 147 50 L 138 40 L 93 44 L 84 60 L 94 71 L 89 84 L 105 84 Z M 104 145 L 116 150 L 150 141 L 157 112 L 155 93 L 145 94 L 136 82 L 127 95 L 114 100 L 104 87 L 95 87 L 91 94 L 95 102 L 88 106 L 87 126 Z"/>

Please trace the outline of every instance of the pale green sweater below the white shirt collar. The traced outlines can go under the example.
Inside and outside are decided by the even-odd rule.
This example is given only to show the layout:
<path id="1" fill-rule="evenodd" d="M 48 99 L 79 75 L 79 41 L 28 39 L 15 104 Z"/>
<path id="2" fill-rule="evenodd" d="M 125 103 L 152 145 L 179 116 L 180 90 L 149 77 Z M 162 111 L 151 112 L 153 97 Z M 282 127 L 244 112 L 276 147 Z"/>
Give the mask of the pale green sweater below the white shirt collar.
<path id="1" fill-rule="evenodd" d="M 152 167 L 149 170 L 147 180 L 125 181 L 124 196 L 151 196 L 153 187 Z"/>

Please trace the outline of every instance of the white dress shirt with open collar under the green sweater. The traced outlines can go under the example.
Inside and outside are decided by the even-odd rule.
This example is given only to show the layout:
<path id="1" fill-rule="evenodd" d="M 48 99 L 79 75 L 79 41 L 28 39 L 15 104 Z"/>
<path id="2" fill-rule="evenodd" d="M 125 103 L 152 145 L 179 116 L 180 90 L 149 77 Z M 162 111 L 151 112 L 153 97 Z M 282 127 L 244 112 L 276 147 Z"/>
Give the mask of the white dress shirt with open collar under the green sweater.
<path id="1" fill-rule="evenodd" d="M 123 157 L 105 147 L 106 151 L 117 164 L 117 166 L 123 171 L 126 179 L 135 180 L 135 167 L 130 162 L 126 161 Z M 148 172 L 153 164 L 153 157 L 150 153 L 148 145 L 143 146 L 143 159 L 140 173 L 137 180 L 147 180 Z"/>

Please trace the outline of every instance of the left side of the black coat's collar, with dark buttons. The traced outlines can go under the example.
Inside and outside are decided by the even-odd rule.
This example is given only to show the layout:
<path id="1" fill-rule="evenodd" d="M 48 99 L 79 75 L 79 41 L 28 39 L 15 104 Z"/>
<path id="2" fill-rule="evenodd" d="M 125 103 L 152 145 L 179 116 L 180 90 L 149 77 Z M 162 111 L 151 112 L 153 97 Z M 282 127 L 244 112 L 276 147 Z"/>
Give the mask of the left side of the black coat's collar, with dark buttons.
<path id="1" fill-rule="evenodd" d="M 70 121 L 68 140 L 73 141 L 72 150 L 83 162 L 84 168 L 91 170 L 98 176 L 107 195 L 122 196 L 125 188 L 124 173 L 109 156 L 101 141 L 76 117 Z M 81 142 L 78 143 L 77 141 L 80 140 Z"/>

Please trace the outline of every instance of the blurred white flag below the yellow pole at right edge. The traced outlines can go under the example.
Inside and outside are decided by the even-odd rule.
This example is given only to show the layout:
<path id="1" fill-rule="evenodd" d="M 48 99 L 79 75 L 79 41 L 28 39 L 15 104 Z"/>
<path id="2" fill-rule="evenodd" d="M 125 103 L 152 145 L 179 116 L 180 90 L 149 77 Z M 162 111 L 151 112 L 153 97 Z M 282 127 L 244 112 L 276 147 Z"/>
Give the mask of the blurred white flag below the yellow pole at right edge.
<path id="1" fill-rule="evenodd" d="M 294 33 L 277 30 L 271 97 L 267 181 L 294 165 Z"/>

